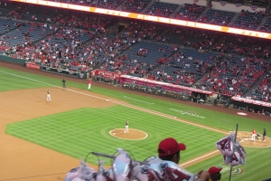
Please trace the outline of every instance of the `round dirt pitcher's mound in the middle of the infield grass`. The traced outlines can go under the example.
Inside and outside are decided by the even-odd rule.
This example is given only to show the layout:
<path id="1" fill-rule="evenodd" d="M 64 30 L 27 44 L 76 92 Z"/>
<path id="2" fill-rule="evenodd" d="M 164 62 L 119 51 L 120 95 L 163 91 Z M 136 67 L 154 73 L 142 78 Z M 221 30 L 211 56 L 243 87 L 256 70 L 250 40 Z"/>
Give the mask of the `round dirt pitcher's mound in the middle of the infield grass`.
<path id="1" fill-rule="evenodd" d="M 109 134 L 115 138 L 122 138 L 128 140 L 138 140 L 147 138 L 147 134 L 138 129 L 129 129 L 129 132 L 125 133 L 125 129 L 112 129 Z"/>

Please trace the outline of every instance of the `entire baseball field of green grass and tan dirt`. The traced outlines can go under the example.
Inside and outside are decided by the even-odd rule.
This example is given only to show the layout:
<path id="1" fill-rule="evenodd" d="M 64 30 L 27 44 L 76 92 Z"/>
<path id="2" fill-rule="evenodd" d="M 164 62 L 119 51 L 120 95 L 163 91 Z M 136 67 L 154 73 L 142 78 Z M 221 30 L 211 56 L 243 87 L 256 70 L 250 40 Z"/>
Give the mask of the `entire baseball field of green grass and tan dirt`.
<path id="1" fill-rule="evenodd" d="M 11 69 L 12 68 L 12 69 Z M 29 72 L 30 71 L 30 72 Z M 58 181 L 79 159 L 95 151 L 112 155 L 125 148 L 135 160 L 155 156 L 160 140 L 176 138 L 186 144 L 180 165 L 193 173 L 211 166 L 229 166 L 215 147 L 238 123 L 238 140 L 247 151 L 246 164 L 233 167 L 231 180 L 271 177 L 271 139 L 251 142 L 250 132 L 271 131 L 271 118 L 239 110 L 173 100 L 113 85 L 26 70 L 0 62 L 0 181 Z M 51 101 L 46 100 L 50 90 Z M 129 133 L 124 134 L 129 120 Z M 109 166 L 111 160 L 105 160 Z M 98 157 L 89 155 L 97 167 Z"/>

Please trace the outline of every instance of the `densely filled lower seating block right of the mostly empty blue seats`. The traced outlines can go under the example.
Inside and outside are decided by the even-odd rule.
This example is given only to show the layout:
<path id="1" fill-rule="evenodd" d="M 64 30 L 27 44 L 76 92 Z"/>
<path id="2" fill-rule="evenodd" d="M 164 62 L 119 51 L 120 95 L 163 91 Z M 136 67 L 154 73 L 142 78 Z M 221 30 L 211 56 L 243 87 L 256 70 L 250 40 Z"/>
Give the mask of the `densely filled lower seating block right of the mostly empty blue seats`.
<path id="1" fill-rule="evenodd" d="M 265 72 L 262 60 L 242 59 L 233 57 L 210 57 L 207 66 L 210 73 L 201 82 L 207 90 L 218 91 L 229 96 L 244 96 L 254 83 Z"/>

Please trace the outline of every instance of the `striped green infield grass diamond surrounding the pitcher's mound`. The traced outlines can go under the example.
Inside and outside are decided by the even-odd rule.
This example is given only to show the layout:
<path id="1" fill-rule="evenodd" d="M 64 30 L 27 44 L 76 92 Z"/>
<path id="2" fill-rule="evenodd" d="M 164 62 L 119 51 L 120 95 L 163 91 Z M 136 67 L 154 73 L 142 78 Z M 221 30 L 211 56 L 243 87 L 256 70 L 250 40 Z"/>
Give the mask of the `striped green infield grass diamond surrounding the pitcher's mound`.
<path id="1" fill-rule="evenodd" d="M 130 125 L 133 125 L 132 128 L 145 131 L 148 134 L 147 138 L 124 140 L 109 135 L 111 129 L 124 129 L 127 115 Z M 151 119 L 155 122 L 148 121 Z M 123 106 L 107 109 L 85 108 L 24 120 L 7 125 L 5 132 L 71 157 L 85 157 L 89 151 L 113 154 L 117 148 L 125 148 L 136 160 L 156 155 L 159 141 L 163 138 L 174 137 L 187 144 L 188 151 L 182 155 L 184 160 L 212 150 L 214 148 L 212 143 L 222 136 L 207 129 L 191 127 L 172 119 L 164 119 Z M 205 142 L 205 139 L 209 142 L 201 148 L 194 144 L 194 141 L 201 143 Z M 96 164 L 96 160 L 92 163 Z"/>

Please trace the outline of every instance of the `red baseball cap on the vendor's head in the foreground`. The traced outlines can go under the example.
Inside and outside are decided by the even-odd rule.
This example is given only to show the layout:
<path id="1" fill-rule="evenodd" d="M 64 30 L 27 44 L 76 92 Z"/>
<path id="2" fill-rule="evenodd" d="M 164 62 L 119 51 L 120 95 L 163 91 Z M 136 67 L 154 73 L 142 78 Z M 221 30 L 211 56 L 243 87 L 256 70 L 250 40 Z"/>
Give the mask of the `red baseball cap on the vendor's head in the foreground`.
<path id="1" fill-rule="evenodd" d="M 159 149 L 163 150 L 159 151 Z M 186 146 L 183 143 L 178 143 L 174 138 L 165 138 L 159 143 L 158 154 L 159 156 L 171 156 L 178 151 L 185 150 Z"/>

